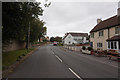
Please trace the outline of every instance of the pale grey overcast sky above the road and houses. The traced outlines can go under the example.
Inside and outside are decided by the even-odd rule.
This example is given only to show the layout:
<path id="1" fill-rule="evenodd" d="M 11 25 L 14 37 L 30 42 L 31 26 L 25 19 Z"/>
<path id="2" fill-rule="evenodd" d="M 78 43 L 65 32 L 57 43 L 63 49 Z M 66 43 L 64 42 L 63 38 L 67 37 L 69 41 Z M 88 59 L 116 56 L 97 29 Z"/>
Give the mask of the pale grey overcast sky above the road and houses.
<path id="1" fill-rule="evenodd" d="M 75 1 L 75 0 L 74 0 Z M 66 32 L 89 31 L 97 18 L 105 20 L 117 14 L 118 2 L 52 2 L 41 17 L 46 22 L 48 36 L 64 36 Z"/>

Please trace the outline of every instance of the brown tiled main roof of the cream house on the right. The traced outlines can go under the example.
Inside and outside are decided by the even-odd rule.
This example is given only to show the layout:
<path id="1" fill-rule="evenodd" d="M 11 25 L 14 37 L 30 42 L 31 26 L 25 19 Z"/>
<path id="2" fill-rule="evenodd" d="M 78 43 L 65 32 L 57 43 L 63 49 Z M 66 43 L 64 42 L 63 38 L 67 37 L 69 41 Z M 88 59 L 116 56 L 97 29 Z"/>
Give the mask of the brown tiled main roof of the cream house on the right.
<path id="1" fill-rule="evenodd" d="M 110 28 L 110 27 L 114 27 L 114 26 L 117 26 L 117 25 L 120 25 L 120 21 L 118 20 L 118 17 L 117 15 L 109 18 L 109 19 L 106 19 L 104 21 L 101 21 L 99 24 L 97 24 L 91 31 L 91 32 L 95 32 L 95 31 L 99 31 L 99 30 L 102 30 L 102 29 L 107 29 L 107 28 Z"/>

